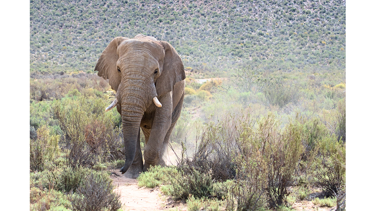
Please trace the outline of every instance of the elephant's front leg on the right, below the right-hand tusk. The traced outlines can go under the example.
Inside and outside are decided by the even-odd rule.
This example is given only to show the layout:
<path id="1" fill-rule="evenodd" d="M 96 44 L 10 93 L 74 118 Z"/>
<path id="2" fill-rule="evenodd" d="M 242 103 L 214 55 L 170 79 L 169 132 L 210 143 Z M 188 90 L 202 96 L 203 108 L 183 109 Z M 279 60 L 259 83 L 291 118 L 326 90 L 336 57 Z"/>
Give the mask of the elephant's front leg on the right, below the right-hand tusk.
<path id="1" fill-rule="evenodd" d="M 172 96 L 171 92 L 162 96 L 159 99 L 162 107 L 157 107 L 155 116 L 152 123 L 152 128 L 148 142 L 144 150 L 145 165 L 143 166 L 146 171 L 150 166 L 163 163 L 160 152 L 163 146 L 163 141 L 166 137 L 167 131 L 171 125 L 172 117 Z"/>

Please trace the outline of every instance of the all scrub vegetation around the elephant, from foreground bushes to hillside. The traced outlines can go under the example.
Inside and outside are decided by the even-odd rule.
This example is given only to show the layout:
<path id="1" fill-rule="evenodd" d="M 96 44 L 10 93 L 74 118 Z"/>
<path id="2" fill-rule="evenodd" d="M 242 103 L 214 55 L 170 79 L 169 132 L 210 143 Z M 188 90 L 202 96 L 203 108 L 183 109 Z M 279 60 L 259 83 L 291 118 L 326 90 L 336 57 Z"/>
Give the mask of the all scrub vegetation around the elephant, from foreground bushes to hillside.
<path id="1" fill-rule="evenodd" d="M 140 186 L 191 211 L 345 209 L 345 2 L 32 0 L 30 210 L 124 209 L 106 171 L 125 163 L 121 117 L 93 67 L 138 33 L 170 42 L 187 73 L 178 164 Z"/>

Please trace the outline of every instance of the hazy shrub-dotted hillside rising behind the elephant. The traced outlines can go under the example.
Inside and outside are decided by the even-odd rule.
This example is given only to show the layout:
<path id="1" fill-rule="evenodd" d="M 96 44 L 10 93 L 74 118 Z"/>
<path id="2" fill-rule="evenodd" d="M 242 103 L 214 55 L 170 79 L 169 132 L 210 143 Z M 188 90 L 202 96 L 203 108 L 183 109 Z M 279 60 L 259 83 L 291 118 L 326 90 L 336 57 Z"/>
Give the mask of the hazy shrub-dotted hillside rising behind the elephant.
<path id="1" fill-rule="evenodd" d="M 30 72 L 93 72 L 114 37 L 139 33 L 206 77 L 249 64 L 345 71 L 345 18 L 338 0 L 30 0 Z"/>

